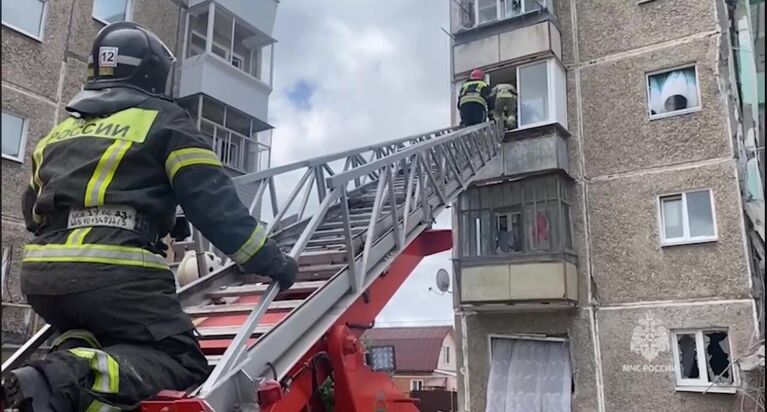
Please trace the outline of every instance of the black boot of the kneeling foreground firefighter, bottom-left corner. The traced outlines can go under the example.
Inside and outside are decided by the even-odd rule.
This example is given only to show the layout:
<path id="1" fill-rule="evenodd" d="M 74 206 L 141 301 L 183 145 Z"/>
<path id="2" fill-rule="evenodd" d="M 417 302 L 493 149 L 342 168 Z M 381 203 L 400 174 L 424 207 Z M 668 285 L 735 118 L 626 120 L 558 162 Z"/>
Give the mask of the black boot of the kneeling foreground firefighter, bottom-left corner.
<path id="1" fill-rule="evenodd" d="M 8 374 L 3 383 L 3 407 L 20 412 L 49 412 L 51 390 L 42 373 L 30 366 Z"/>

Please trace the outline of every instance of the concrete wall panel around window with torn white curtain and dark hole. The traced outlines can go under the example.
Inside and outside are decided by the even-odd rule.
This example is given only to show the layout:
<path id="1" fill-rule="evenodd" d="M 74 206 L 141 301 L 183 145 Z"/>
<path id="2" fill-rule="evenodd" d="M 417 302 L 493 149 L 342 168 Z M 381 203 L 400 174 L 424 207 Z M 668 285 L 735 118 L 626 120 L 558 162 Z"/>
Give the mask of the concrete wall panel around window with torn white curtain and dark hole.
<path id="1" fill-rule="evenodd" d="M 729 156 L 716 46 L 710 36 L 581 69 L 587 175 Z M 646 73 L 687 64 L 697 67 L 701 110 L 650 120 Z"/>

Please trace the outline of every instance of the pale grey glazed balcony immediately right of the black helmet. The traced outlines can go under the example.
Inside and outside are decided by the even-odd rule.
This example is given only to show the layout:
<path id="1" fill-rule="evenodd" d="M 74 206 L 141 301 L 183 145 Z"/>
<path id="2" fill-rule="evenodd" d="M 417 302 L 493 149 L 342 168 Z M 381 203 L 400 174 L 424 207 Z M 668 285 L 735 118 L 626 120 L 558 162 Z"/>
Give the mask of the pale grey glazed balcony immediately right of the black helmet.
<path id="1" fill-rule="evenodd" d="M 273 40 L 218 3 L 189 11 L 179 97 L 205 94 L 266 120 Z"/>

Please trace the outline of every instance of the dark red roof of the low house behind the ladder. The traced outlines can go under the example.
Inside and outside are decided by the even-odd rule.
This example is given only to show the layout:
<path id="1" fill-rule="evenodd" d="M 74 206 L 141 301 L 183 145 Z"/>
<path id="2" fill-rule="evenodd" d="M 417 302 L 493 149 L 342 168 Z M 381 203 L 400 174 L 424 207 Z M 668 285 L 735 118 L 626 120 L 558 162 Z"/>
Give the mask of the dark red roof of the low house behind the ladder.
<path id="1" fill-rule="evenodd" d="M 368 345 L 394 346 L 397 372 L 432 372 L 439 364 L 442 342 L 452 326 L 373 328 L 365 332 Z"/>

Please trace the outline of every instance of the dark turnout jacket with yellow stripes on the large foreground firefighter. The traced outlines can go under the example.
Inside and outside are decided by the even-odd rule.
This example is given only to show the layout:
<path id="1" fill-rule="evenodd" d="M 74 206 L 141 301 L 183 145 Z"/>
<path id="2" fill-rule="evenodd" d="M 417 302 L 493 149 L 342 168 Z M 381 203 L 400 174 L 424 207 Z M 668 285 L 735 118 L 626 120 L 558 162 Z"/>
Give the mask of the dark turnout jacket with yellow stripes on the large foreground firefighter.
<path id="1" fill-rule="evenodd" d="M 262 269 L 264 229 L 183 108 L 114 88 L 82 91 L 67 110 L 73 116 L 43 137 L 32 156 L 22 209 L 36 236 L 24 250 L 24 293 L 172 279 L 156 245 L 173 228 L 178 204 L 234 262 Z"/>

